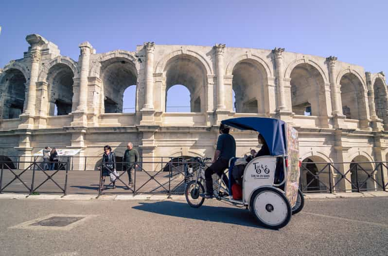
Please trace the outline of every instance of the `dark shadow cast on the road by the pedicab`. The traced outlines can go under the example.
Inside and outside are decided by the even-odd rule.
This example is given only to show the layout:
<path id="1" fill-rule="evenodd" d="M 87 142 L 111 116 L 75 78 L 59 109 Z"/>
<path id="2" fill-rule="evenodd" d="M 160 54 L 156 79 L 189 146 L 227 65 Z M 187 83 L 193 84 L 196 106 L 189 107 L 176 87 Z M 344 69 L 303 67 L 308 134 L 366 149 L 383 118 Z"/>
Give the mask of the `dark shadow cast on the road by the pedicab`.
<path id="1" fill-rule="evenodd" d="M 139 204 L 141 205 L 134 206 L 133 208 L 174 217 L 227 224 L 237 224 L 242 226 L 259 227 L 266 229 L 265 227 L 259 226 L 256 219 L 245 208 L 241 209 L 204 205 L 200 208 L 192 208 L 186 203 L 171 201 L 161 201 L 153 203 L 140 202 Z"/>

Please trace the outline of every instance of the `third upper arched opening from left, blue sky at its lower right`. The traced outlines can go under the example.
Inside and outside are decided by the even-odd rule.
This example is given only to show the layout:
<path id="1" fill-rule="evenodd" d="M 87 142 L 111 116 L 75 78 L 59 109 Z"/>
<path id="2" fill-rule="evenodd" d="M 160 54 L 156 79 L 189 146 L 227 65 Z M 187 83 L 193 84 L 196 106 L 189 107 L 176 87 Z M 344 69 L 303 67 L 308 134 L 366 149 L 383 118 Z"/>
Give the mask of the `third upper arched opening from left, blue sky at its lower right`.
<path id="1" fill-rule="evenodd" d="M 104 87 L 105 112 L 136 112 L 137 71 L 135 64 L 123 58 L 109 59 L 101 64 L 101 77 Z M 131 95 L 126 94 L 124 98 L 124 92 L 127 88 L 129 88 L 128 92 L 131 92 Z M 133 107 L 128 109 L 126 107 L 128 105 Z"/>

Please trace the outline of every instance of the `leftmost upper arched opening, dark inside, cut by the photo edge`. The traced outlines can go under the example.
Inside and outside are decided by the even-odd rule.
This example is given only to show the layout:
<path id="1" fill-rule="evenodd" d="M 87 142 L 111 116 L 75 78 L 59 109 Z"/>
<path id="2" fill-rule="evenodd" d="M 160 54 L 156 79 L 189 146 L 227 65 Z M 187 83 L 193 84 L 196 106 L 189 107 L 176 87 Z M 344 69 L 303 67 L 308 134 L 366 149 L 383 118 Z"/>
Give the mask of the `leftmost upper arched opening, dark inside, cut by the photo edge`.
<path id="1" fill-rule="evenodd" d="M 18 118 L 24 110 L 26 78 L 18 69 L 4 71 L 0 78 L 0 119 Z"/>

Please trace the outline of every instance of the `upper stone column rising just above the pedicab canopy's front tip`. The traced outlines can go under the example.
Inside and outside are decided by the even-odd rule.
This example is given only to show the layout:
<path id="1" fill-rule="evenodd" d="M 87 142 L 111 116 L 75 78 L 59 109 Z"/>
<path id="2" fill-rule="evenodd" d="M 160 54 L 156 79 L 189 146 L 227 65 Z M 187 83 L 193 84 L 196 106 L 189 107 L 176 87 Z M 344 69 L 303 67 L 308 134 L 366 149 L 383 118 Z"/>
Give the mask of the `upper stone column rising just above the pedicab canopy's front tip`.
<path id="1" fill-rule="evenodd" d="M 217 110 L 225 110 L 225 85 L 224 85 L 224 52 L 225 44 L 216 44 L 215 62 L 217 72 Z"/>

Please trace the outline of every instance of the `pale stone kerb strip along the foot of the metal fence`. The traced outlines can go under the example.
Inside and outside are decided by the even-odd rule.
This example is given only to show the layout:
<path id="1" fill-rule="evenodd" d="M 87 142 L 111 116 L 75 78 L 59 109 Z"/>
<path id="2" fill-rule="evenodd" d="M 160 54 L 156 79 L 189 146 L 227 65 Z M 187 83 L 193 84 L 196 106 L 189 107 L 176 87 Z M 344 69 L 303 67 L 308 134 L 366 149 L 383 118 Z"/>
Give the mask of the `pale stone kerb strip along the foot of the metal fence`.
<path id="1" fill-rule="evenodd" d="M 352 193 L 310 193 L 304 194 L 305 199 L 338 199 L 338 198 L 364 198 L 364 197 L 385 197 L 388 196 L 388 192 L 385 191 L 373 191 L 373 192 L 352 192 Z M 0 199 L 28 199 L 28 200 L 150 200 L 150 201 L 186 201 L 184 195 L 159 195 L 159 194 L 109 194 L 96 196 L 93 194 L 19 194 L 19 193 L 3 193 L 0 194 Z"/>

